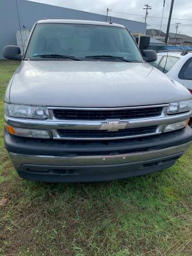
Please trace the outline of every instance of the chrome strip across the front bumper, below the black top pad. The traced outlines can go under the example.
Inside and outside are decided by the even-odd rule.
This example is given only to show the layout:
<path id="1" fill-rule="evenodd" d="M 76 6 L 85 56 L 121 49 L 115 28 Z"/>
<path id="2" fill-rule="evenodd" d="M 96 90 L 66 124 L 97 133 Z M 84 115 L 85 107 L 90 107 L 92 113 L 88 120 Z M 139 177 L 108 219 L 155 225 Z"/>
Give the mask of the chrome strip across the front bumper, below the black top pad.
<path id="1" fill-rule="evenodd" d="M 191 142 L 177 145 L 175 147 L 163 148 L 160 150 L 153 150 L 147 152 L 137 152 L 128 154 L 118 154 L 115 156 L 74 156 L 74 157 L 60 157 L 60 156 L 33 156 L 16 154 L 9 152 L 10 159 L 15 168 L 20 168 L 22 164 L 42 164 L 42 165 L 61 165 L 61 166 L 104 166 L 113 164 L 126 164 L 139 161 L 147 161 L 157 159 L 160 157 L 171 156 L 173 154 L 183 154 Z"/>

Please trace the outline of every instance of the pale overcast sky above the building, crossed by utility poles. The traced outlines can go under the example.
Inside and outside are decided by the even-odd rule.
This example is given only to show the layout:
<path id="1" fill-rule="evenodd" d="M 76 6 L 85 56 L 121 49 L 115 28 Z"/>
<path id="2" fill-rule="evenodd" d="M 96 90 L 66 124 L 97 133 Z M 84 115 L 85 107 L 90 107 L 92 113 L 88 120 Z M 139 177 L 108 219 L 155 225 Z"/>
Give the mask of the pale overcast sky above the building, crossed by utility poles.
<path id="1" fill-rule="evenodd" d="M 31 0 L 29 0 L 31 1 Z M 161 19 L 155 19 L 150 16 L 161 17 L 163 11 L 164 0 L 33 0 L 35 2 L 47 3 L 86 12 L 95 12 L 106 15 L 106 9 L 109 8 L 113 12 L 124 12 L 137 15 L 145 15 L 143 10 L 144 4 L 148 3 L 152 6 L 152 10 L 148 11 L 148 27 L 160 28 Z M 171 0 L 165 0 L 164 17 L 168 17 L 170 11 Z M 136 15 L 113 13 L 110 15 L 124 19 L 141 21 L 143 17 Z M 192 36 L 192 0 L 175 0 L 173 6 L 172 22 L 170 32 L 175 33 L 175 22 L 180 22 L 178 33 Z M 179 20 L 186 19 L 186 20 Z M 188 20 L 189 19 L 189 20 Z M 166 31 L 168 19 L 163 19 L 162 30 Z"/>

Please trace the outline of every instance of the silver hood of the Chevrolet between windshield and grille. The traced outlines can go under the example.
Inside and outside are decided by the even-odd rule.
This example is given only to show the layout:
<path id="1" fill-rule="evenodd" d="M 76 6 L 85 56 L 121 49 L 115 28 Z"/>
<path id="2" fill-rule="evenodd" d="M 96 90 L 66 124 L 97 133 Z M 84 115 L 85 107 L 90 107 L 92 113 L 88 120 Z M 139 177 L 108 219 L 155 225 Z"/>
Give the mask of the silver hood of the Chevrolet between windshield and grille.
<path id="1" fill-rule="evenodd" d="M 61 107 L 123 107 L 191 99 L 179 83 L 147 63 L 22 61 L 10 102 Z"/>

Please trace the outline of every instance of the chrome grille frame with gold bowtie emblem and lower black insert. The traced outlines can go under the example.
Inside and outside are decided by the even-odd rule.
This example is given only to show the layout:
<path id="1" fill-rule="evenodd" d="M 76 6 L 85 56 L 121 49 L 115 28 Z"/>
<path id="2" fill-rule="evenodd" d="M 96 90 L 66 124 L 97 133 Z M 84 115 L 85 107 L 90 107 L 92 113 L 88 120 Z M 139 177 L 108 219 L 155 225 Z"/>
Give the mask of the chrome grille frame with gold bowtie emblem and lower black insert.
<path id="1" fill-rule="evenodd" d="M 93 109 L 143 109 L 143 108 L 161 108 L 161 115 L 148 117 L 148 118 L 129 118 L 129 119 L 106 119 L 106 120 L 60 120 L 54 116 L 54 109 L 83 109 L 93 110 Z M 7 124 L 13 127 L 24 127 L 31 129 L 45 129 L 52 134 L 52 138 L 56 140 L 118 140 L 125 138 L 136 138 L 143 136 L 150 136 L 154 134 L 161 134 L 164 131 L 165 125 L 173 124 L 183 120 L 187 120 L 191 116 L 191 111 L 188 113 L 182 113 L 178 115 L 167 115 L 168 104 L 156 105 L 156 106 L 139 106 L 139 107 L 128 107 L 128 108 L 51 108 L 49 107 L 50 117 L 47 120 L 29 120 L 24 118 L 11 118 L 5 116 L 5 121 Z M 149 130 L 147 127 L 156 127 L 156 129 Z M 145 129 L 146 128 L 146 129 Z M 125 130 L 127 129 L 127 134 Z M 131 134 L 128 130 L 130 129 L 140 129 L 138 134 Z M 67 130 L 71 133 L 71 136 L 66 135 L 66 132 L 62 130 Z M 72 132 L 70 132 L 70 130 Z M 79 131 L 79 132 L 78 132 Z M 86 131 L 104 131 L 105 136 L 85 136 Z M 132 130 L 133 131 L 133 130 Z M 143 131 L 143 132 L 142 132 Z M 110 132 L 113 132 L 114 136 L 111 136 Z M 118 132 L 118 133 L 114 133 Z M 72 134 L 76 134 L 72 136 Z M 79 135 L 78 135 L 79 133 Z M 97 133 L 97 132 L 95 132 Z M 81 136 L 83 134 L 83 136 Z M 108 136 L 109 134 L 109 136 Z"/>

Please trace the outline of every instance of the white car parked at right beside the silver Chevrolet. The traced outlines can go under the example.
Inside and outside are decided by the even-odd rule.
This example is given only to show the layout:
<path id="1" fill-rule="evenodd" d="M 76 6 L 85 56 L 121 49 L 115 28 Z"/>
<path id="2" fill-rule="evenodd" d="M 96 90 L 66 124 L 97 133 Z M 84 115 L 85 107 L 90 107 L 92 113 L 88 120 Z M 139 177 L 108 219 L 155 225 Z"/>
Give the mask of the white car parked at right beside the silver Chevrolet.
<path id="1" fill-rule="evenodd" d="M 192 93 L 192 51 L 158 52 L 151 64 Z"/>

